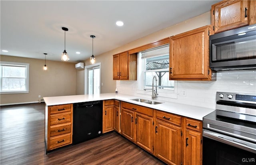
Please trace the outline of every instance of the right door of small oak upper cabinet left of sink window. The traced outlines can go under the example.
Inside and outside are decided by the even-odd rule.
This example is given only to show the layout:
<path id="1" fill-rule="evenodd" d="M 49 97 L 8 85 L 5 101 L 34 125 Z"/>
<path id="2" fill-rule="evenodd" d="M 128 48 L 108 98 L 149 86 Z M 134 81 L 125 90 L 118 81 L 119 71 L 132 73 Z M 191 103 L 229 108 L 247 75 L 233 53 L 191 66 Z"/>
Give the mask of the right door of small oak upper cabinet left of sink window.
<path id="1" fill-rule="evenodd" d="M 128 52 L 120 54 L 120 80 L 128 80 Z"/>

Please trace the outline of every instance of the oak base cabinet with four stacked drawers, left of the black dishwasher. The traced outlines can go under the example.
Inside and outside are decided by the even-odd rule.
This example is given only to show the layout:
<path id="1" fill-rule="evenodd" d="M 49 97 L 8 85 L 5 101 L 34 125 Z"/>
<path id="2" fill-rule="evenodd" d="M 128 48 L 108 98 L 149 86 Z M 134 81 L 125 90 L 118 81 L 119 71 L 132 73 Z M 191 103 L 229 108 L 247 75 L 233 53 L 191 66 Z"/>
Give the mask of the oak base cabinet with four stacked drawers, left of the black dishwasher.
<path id="1" fill-rule="evenodd" d="M 46 106 L 46 153 L 72 144 L 73 104 Z"/>

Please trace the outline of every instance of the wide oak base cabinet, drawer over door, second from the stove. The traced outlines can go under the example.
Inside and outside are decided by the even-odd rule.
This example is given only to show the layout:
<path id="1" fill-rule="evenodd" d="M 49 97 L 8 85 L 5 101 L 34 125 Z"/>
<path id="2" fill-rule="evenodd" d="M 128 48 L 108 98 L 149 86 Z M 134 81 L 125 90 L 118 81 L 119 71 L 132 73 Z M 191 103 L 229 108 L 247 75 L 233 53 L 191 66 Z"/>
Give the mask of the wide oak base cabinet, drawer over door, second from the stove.
<path id="1" fill-rule="evenodd" d="M 156 110 L 155 156 L 170 165 L 181 164 L 181 116 Z"/>

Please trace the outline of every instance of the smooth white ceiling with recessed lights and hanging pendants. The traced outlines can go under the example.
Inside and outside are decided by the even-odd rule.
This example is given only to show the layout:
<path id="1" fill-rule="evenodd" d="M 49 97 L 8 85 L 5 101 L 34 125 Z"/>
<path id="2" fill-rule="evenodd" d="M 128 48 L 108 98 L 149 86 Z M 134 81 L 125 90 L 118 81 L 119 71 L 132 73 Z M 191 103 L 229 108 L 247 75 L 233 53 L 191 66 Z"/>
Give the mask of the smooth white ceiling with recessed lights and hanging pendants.
<path id="1" fill-rule="evenodd" d="M 1 0 L 1 55 L 81 62 L 210 11 L 216 0 Z M 124 26 L 116 26 L 116 21 Z M 3 52 L 2 50 L 8 50 Z M 76 54 L 79 51 L 80 54 Z"/>

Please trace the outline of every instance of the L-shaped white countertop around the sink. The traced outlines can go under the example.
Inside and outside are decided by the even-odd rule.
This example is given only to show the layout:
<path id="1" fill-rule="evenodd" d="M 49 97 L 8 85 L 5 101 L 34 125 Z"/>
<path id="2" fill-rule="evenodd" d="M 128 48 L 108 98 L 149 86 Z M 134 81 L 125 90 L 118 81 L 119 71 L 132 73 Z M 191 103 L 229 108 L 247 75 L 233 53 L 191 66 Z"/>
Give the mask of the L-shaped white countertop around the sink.
<path id="1" fill-rule="evenodd" d="M 162 110 L 165 112 L 170 112 L 172 114 L 178 114 L 181 116 L 186 116 L 189 118 L 194 118 L 197 120 L 203 120 L 203 117 L 213 112 L 215 109 L 204 108 L 200 106 L 191 106 L 186 104 L 178 104 L 174 102 L 163 102 L 162 104 L 146 104 L 143 102 L 137 102 L 130 99 L 142 98 L 140 96 L 132 96 L 127 94 L 116 94 L 116 93 L 104 93 L 104 94 L 83 94 L 83 95 L 72 95 L 72 96 L 55 96 L 55 97 L 44 97 L 44 102 L 46 106 L 60 105 L 60 104 L 71 104 L 78 102 L 89 102 L 96 100 L 109 100 L 116 99 L 120 101 L 130 102 L 133 104 L 138 104 L 141 106 L 146 106 L 156 110 Z M 150 100 L 148 98 L 144 98 Z M 162 102 L 159 100 L 154 100 L 157 102 Z"/>

